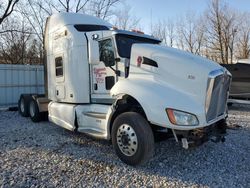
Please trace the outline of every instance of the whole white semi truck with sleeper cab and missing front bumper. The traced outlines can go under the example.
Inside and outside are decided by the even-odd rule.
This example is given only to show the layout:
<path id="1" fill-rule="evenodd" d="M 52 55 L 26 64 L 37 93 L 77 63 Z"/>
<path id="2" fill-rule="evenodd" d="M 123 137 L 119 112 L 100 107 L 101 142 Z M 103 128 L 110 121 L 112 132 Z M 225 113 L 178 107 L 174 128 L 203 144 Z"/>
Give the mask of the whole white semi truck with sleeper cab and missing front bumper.
<path id="1" fill-rule="evenodd" d="M 219 64 L 83 14 L 50 16 L 44 36 L 46 94 L 21 95 L 23 116 L 112 140 L 129 165 L 152 157 L 159 131 L 184 148 L 224 139 L 231 74 Z"/>

